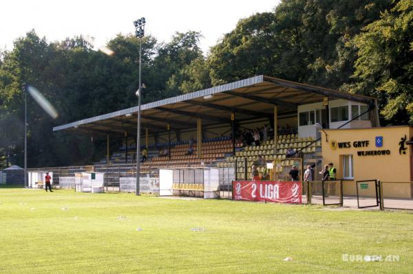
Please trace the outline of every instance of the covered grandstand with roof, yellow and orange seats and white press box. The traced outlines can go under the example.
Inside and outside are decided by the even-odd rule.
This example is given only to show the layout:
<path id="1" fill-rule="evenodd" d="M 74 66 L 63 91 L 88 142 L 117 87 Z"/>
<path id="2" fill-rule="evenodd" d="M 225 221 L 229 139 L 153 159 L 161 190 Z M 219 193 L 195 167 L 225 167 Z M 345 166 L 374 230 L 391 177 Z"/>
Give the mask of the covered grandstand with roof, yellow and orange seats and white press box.
<path id="1" fill-rule="evenodd" d="M 238 178 L 249 178 L 254 162 L 274 161 L 275 172 L 283 173 L 293 165 L 288 157 L 300 157 L 304 165 L 320 168 L 320 129 L 380 126 L 375 98 L 268 76 L 151 102 L 141 110 L 140 136 L 145 141 L 140 149 L 147 148 L 148 155 L 142 172 L 235 166 Z M 94 169 L 132 171 L 139 159 L 137 113 L 135 106 L 53 130 L 105 137 L 107 157 L 91 163 Z M 257 141 L 245 138 L 254 135 L 252 130 L 260 134 Z"/>

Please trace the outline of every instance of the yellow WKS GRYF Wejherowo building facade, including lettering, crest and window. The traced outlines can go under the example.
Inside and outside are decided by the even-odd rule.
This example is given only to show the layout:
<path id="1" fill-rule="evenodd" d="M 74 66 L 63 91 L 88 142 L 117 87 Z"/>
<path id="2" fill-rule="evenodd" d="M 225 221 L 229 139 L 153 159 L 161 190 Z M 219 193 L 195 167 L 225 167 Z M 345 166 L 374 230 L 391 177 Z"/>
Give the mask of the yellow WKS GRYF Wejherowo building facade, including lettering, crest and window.
<path id="1" fill-rule="evenodd" d="M 413 181 L 412 126 L 325 129 L 321 138 L 323 164 L 335 165 L 344 194 L 357 194 L 356 181 L 377 179 L 394 183 L 388 195 L 412 198 L 413 184 L 405 183 Z"/>

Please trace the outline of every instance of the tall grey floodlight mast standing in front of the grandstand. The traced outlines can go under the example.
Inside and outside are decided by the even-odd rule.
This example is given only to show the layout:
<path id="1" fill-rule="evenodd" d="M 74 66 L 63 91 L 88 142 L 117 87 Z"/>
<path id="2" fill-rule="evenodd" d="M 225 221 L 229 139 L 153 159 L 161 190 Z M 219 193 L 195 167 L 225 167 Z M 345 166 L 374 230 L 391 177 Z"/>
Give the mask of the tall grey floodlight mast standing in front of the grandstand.
<path id="1" fill-rule="evenodd" d="M 136 135 L 136 196 L 140 195 L 140 98 L 142 97 L 142 38 L 145 35 L 145 17 L 134 21 L 135 36 L 139 38 L 138 129 Z"/>

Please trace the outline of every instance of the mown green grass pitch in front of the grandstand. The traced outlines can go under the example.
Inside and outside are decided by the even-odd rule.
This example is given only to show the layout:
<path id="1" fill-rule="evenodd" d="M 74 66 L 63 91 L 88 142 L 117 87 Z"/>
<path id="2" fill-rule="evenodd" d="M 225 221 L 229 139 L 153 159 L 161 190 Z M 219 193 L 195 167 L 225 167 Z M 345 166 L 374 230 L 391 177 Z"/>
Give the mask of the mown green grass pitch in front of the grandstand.
<path id="1" fill-rule="evenodd" d="M 413 273 L 413 214 L 3 187 L 0 273 Z"/>

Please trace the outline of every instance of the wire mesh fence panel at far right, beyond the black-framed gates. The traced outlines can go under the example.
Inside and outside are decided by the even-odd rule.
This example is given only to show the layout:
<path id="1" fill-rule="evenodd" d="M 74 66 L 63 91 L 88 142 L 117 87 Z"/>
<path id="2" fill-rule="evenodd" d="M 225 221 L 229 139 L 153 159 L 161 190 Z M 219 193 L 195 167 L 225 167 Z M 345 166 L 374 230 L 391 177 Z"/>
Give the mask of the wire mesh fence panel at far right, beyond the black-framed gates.
<path id="1" fill-rule="evenodd" d="M 413 210 L 413 182 L 379 182 L 381 209 Z"/>

